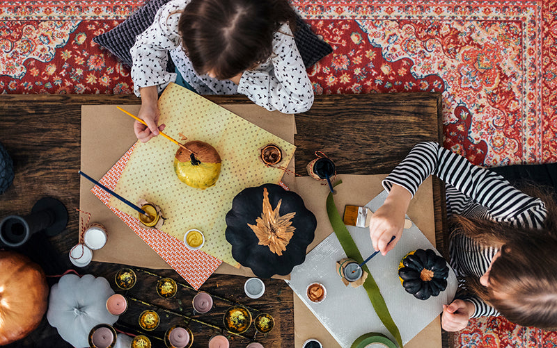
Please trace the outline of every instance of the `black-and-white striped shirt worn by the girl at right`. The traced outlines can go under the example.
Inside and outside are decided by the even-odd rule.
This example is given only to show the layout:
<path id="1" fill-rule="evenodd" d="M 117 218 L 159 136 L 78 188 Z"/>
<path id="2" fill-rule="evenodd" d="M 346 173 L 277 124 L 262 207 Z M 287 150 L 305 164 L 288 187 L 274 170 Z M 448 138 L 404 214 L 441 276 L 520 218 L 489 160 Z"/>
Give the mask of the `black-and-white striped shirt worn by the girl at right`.
<path id="1" fill-rule="evenodd" d="M 417 144 L 402 163 L 383 181 L 386 190 L 398 184 L 412 194 L 434 174 L 446 183 L 447 211 L 464 217 L 503 222 L 511 226 L 539 229 L 547 216 L 540 199 L 512 187 L 502 176 L 477 167 L 466 158 L 444 149 L 437 142 Z M 483 247 L 464 236 L 450 241 L 450 265 L 457 276 L 482 276 L 495 254 L 494 247 Z M 472 317 L 499 315 L 478 297 L 466 297 L 476 310 Z"/>

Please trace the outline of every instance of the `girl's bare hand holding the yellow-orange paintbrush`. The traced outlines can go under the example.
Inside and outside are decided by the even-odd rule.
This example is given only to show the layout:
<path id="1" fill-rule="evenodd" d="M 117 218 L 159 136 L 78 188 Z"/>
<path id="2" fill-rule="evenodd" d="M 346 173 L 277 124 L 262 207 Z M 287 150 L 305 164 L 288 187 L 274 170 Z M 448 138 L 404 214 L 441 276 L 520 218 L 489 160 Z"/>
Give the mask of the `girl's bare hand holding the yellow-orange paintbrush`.
<path id="1" fill-rule="evenodd" d="M 165 125 L 159 123 L 159 106 L 157 105 L 156 86 L 141 88 L 141 108 L 137 117 L 143 119 L 147 124 L 136 121 L 134 123 L 134 133 L 141 142 L 148 142 L 151 138 L 159 135 L 159 131 L 164 130 Z"/>

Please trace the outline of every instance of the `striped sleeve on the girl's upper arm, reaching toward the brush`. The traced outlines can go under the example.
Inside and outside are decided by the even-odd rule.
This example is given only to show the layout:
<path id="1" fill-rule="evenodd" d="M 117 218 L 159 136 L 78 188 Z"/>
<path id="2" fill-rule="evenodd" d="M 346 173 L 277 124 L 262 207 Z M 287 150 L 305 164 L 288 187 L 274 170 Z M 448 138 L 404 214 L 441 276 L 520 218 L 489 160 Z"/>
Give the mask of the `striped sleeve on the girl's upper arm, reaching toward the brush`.
<path id="1" fill-rule="evenodd" d="M 444 149 L 436 142 L 421 142 L 411 149 L 389 176 L 383 181 L 390 190 L 393 184 L 406 188 L 412 196 L 419 185 L 434 174 L 466 197 L 489 210 L 495 221 L 512 226 L 539 228 L 547 214 L 540 199 L 528 196 L 512 187 L 502 176 L 489 169 L 477 167 L 466 158 Z M 457 197 L 452 197 L 458 201 Z M 458 205 L 451 206 L 453 213 L 462 213 Z"/>

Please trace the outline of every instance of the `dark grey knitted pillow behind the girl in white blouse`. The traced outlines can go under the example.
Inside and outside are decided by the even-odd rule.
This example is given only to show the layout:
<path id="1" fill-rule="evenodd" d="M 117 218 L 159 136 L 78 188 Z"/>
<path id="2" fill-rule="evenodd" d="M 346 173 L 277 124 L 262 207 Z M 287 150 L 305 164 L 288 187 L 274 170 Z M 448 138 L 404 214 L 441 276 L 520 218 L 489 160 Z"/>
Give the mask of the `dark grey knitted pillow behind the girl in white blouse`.
<path id="1" fill-rule="evenodd" d="M 169 0 L 151 0 L 145 6 L 134 12 L 124 22 L 111 29 L 107 33 L 103 33 L 93 38 L 93 41 L 107 48 L 114 56 L 122 61 L 127 67 L 132 67 L 132 55 L 130 49 L 135 43 L 136 35 L 152 24 L 157 10 L 160 6 Z M 311 27 L 304 22 L 304 19 L 297 17 L 297 31 L 294 33 L 294 39 L 304 65 L 306 68 L 311 67 L 318 60 L 327 56 L 333 51 L 333 48 L 324 42 L 311 31 Z M 168 72 L 174 71 L 172 61 L 168 60 L 166 67 Z"/>

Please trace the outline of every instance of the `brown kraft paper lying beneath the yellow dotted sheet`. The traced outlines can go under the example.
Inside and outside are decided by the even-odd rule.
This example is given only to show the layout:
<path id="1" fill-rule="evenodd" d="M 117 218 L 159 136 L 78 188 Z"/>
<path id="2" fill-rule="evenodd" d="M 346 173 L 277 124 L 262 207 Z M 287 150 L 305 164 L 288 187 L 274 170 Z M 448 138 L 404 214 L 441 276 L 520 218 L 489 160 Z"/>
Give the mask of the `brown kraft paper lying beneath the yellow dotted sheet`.
<path id="1" fill-rule="evenodd" d="M 130 113 L 139 112 L 139 105 L 122 107 Z M 226 104 L 223 107 L 288 142 L 294 142 L 294 115 L 277 111 L 269 112 L 256 105 Z M 136 142 L 133 123 L 134 120 L 118 110 L 116 106 L 82 106 L 81 170 L 95 179 L 100 179 L 106 174 Z M 91 222 L 102 224 L 108 234 L 107 245 L 93 252 L 93 260 L 154 269 L 170 268 L 155 251 L 91 193 L 91 188 L 93 184 L 82 178 L 80 209 L 91 213 Z M 247 273 L 246 270 L 228 267 L 226 272 L 230 274 L 246 275 Z"/>

